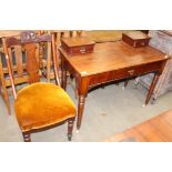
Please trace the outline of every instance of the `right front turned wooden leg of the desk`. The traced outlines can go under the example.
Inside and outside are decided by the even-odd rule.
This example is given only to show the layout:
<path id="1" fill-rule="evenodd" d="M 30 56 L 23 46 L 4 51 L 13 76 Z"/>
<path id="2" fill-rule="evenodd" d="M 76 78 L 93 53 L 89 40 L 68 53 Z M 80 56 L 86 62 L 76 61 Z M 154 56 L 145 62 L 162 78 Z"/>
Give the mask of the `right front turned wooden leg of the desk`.
<path id="1" fill-rule="evenodd" d="M 154 74 L 154 78 L 152 80 L 152 83 L 151 83 L 151 87 L 149 89 L 149 92 L 148 92 L 148 95 L 146 95 L 146 99 L 145 99 L 145 105 L 149 103 L 151 97 L 152 97 L 152 93 L 153 93 L 153 90 L 159 81 L 159 78 L 160 78 L 160 73 L 155 73 Z"/>

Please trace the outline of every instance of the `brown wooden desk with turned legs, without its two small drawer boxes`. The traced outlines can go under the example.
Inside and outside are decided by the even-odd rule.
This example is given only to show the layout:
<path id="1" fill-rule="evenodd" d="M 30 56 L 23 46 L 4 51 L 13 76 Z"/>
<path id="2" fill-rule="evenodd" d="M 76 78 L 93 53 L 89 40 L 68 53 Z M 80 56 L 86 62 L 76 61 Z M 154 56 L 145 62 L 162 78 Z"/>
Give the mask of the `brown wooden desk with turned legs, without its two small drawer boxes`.
<path id="1" fill-rule="evenodd" d="M 164 53 L 151 47 L 132 48 L 118 41 L 113 45 L 93 53 L 70 57 L 60 49 L 62 58 L 62 88 L 67 88 L 67 70 L 75 78 L 78 101 L 78 130 L 81 127 L 84 102 L 89 89 L 110 81 L 121 80 L 154 73 L 151 88 L 148 92 L 145 104 L 149 103 L 154 87 L 161 75 L 164 64 L 169 59 Z"/>

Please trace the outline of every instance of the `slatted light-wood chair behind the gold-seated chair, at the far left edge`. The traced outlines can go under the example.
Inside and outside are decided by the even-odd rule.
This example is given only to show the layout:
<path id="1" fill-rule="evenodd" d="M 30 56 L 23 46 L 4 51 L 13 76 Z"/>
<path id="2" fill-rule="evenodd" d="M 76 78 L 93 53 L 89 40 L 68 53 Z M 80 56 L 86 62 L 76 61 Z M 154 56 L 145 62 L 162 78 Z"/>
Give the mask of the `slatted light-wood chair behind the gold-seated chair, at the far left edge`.
<path id="1" fill-rule="evenodd" d="M 10 33 L 10 31 L 9 32 L 7 31 L 7 36 L 19 38 L 20 32 L 11 31 Z M 38 48 L 37 48 L 36 53 L 37 53 L 37 59 L 39 60 L 39 54 L 40 54 L 39 43 L 37 44 L 37 47 Z M 26 69 L 27 69 L 26 57 L 22 55 L 22 59 L 20 59 L 21 54 L 23 53 L 24 53 L 23 47 L 13 47 L 12 49 L 9 49 L 10 63 L 11 63 L 12 71 L 14 73 L 13 79 L 14 79 L 16 85 L 21 84 L 21 83 L 28 83 L 28 74 L 26 72 Z M 1 44 L 1 49 L 0 49 L 0 93 L 7 105 L 8 114 L 11 114 L 11 107 L 10 107 L 10 101 L 9 101 L 9 95 L 11 94 L 10 88 L 11 88 L 11 83 L 10 83 L 10 78 L 9 78 L 9 70 L 7 67 L 3 48 Z"/>

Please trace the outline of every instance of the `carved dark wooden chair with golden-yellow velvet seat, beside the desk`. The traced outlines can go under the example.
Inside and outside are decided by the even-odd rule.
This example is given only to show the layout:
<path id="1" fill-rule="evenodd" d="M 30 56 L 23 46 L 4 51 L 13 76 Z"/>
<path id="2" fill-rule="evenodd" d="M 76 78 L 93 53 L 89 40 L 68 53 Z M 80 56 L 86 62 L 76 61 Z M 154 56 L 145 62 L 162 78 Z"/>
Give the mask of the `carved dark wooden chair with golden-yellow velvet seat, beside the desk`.
<path id="1" fill-rule="evenodd" d="M 70 97 L 59 85 L 39 82 L 39 62 L 36 58 L 37 43 L 39 42 L 51 43 L 55 81 L 60 85 L 54 34 L 37 37 L 33 32 L 23 32 L 21 33 L 20 39 L 2 39 L 11 88 L 14 97 L 16 117 L 22 131 L 23 139 L 27 142 L 31 141 L 30 134 L 32 132 L 49 129 L 65 121 L 68 121 L 68 139 L 71 140 L 75 118 L 75 107 Z M 19 48 L 21 45 L 26 50 L 26 72 L 29 75 L 29 83 L 31 84 L 21 89 L 17 93 L 9 52 L 13 47 Z M 21 59 L 22 54 L 20 59 L 18 58 L 18 60 L 20 61 Z"/>

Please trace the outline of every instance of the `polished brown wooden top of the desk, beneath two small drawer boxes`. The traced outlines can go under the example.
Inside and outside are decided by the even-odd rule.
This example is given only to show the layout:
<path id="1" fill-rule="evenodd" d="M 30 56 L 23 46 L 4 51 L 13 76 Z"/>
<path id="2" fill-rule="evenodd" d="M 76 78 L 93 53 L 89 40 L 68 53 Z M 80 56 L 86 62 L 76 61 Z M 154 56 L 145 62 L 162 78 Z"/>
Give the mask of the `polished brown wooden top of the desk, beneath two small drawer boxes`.
<path id="1" fill-rule="evenodd" d="M 169 58 L 165 53 L 150 45 L 133 48 L 123 41 L 113 42 L 113 47 L 108 50 L 102 48 L 102 51 L 87 54 L 70 57 L 64 50 L 60 49 L 60 51 L 81 75 L 114 71 Z"/>

